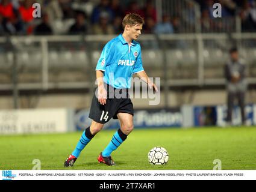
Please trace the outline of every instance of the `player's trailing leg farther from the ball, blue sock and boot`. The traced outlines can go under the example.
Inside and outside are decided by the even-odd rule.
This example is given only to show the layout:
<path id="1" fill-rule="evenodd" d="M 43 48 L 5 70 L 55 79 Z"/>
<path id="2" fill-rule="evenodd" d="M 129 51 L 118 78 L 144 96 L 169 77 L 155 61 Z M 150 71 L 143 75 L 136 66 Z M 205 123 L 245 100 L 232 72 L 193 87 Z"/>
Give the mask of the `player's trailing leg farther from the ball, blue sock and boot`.
<path id="1" fill-rule="evenodd" d="M 88 127 L 82 134 L 80 140 L 78 141 L 75 150 L 69 157 L 64 161 L 64 167 L 72 167 L 76 159 L 81 154 L 81 151 L 86 147 L 86 145 L 93 139 L 93 137 L 102 130 L 104 124 L 100 124 L 96 121 L 92 121 L 90 127 Z"/>

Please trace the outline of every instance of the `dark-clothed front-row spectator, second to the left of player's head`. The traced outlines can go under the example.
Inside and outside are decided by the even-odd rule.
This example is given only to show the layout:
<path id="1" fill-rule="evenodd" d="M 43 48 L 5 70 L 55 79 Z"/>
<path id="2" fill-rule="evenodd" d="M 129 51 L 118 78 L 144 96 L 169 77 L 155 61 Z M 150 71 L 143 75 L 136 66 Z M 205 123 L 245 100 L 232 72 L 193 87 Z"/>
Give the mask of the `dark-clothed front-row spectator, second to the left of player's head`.
<path id="1" fill-rule="evenodd" d="M 75 23 L 70 27 L 69 34 L 77 35 L 77 34 L 86 34 L 88 31 L 86 25 L 86 15 L 78 11 L 76 13 Z"/>

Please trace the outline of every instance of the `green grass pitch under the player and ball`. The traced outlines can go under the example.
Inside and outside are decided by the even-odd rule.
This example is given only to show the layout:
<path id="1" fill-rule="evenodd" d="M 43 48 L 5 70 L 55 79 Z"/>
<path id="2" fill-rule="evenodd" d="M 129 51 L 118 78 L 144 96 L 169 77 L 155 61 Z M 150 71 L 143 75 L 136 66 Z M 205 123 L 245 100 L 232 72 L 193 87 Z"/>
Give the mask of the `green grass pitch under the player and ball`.
<path id="1" fill-rule="evenodd" d="M 103 130 L 86 146 L 74 167 L 63 163 L 73 151 L 81 132 L 66 134 L 40 134 L 0 136 L 0 169 L 32 169 L 34 159 L 41 161 L 42 169 L 205 169 L 212 170 L 213 160 L 222 161 L 222 169 L 256 169 L 256 128 L 192 128 L 134 130 L 128 139 L 114 151 L 117 166 L 99 164 L 96 158 L 114 133 Z M 148 152 L 163 146 L 169 152 L 164 166 L 148 163 Z"/>

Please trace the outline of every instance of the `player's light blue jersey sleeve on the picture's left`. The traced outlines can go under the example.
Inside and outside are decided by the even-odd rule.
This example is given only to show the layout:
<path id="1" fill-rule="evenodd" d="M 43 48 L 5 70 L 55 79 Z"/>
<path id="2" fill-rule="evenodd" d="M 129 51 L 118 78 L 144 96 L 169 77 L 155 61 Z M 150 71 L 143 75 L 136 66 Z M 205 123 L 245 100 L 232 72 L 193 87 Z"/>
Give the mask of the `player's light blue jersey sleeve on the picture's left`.
<path id="1" fill-rule="evenodd" d="M 108 42 L 105 44 L 101 56 L 99 57 L 98 63 L 96 65 L 96 71 L 101 70 L 105 71 L 106 70 L 106 65 L 110 64 L 110 59 L 111 59 L 111 54 L 113 54 L 113 50 L 111 50 L 112 47 L 111 42 Z"/>

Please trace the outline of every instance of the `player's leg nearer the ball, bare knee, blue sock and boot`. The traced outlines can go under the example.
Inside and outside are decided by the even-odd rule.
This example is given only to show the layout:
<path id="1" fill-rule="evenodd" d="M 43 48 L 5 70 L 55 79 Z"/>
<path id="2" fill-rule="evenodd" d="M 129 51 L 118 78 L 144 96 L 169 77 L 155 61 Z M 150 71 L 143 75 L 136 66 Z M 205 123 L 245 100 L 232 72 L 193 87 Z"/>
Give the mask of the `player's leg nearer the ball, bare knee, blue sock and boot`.
<path id="1" fill-rule="evenodd" d="M 111 142 L 108 144 L 108 146 L 102 151 L 102 153 L 99 155 L 99 162 L 102 162 L 101 160 L 105 160 L 105 163 L 107 165 L 114 165 L 114 161 L 111 159 L 111 152 L 116 150 L 127 138 L 128 134 L 133 131 L 133 115 L 130 113 L 118 113 L 117 118 L 120 121 L 121 128 L 114 133 Z"/>

